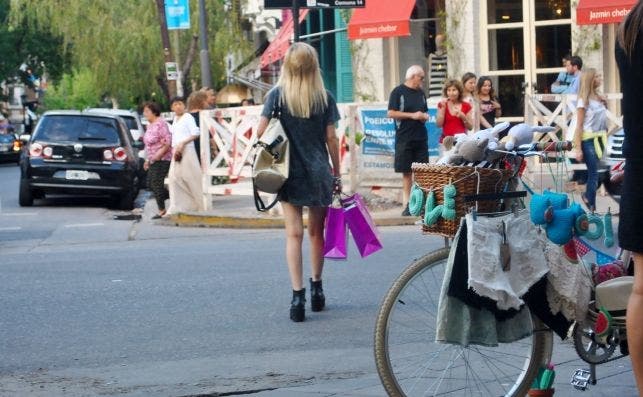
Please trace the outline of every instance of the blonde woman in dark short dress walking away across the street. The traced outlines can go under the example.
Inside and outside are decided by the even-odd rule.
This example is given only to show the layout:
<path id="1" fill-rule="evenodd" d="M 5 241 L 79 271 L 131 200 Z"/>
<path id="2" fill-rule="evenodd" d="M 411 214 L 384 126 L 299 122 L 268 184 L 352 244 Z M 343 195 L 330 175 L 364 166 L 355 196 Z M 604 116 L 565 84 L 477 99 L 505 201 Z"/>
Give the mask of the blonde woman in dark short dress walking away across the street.
<path id="1" fill-rule="evenodd" d="M 339 111 L 324 88 L 317 52 L 310 45 L 295 43 L 286 52 L 279 82 L 266 97 L 259 136 L 266 130 L 275 106 L 281 108 L 281 123 L 290 141 L 289 177 L 279 199 L 286 223 L 286 261 L 293 291 L 290 319 L 301 322 L 306 304 L 303 207 L 308 207 L 311 308 L 321 311 L 326 304 L 322 288 L 324 220 L 333 190 L 341 191 L 339 140 L 335 134 Z"/>

